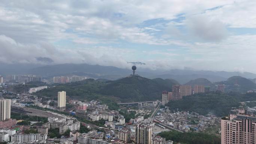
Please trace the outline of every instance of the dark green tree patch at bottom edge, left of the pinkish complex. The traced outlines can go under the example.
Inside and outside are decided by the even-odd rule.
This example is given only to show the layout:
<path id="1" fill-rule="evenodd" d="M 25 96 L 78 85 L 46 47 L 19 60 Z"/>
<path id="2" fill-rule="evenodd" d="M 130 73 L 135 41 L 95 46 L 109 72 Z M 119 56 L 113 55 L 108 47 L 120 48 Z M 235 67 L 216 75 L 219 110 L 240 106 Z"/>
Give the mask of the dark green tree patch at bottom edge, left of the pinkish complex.
<path id="1" fill-rule="evenodd" d="M 182 144 L 220 144 L 220 137 L 201 132 L 181 133 L 177 131 L 168 131 L 161 132 L 159 135 L 166 138 L 166 140 L 172 140 Z"/>

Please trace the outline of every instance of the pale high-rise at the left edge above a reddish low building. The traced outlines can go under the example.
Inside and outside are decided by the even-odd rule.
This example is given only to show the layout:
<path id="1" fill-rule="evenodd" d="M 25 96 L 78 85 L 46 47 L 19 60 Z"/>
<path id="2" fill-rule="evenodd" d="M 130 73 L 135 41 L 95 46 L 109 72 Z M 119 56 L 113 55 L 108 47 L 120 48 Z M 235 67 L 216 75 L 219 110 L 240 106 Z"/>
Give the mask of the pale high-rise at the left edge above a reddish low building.
<path id="1" fill-rule="evenodd" d="M 10 119 L 10 99 L 0 99 L 0 120 Z"/>

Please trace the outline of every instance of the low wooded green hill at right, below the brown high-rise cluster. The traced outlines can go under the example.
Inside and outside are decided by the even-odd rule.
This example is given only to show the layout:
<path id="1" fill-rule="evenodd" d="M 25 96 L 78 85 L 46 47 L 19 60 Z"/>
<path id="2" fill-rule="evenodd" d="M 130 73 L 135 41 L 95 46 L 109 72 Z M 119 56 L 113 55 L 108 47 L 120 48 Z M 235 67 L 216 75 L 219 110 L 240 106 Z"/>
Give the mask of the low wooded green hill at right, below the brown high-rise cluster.
<path id="1" fill-rule="evenodd" d="M 210 112 L 221 117 L 228 115 L 232 107 L 238 107 L 240 105 L 239 102 L 255 100 L 256 93 L 202 93 L 184 96 L 179 101 L 170 101 L 168 106 L 171 110 L 195 111 L 201 115 L 206 115 Z"/>

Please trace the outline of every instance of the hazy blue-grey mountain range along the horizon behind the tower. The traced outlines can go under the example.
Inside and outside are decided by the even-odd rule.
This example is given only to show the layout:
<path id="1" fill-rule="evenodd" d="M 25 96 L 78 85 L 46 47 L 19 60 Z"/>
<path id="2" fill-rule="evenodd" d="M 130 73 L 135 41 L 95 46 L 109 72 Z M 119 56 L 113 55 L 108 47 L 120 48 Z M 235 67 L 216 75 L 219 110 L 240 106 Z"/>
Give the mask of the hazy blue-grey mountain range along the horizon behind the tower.
<path id="1" fill-rule="evenodd" d="M 136 64 L 136 63 L 135 63 Z M 44 78 L 53 76 L 86 76 L 93 79 L 117 80 L 129 76 L 132 70 L 113 66 L 89 65 L 89 64 L 57 64 L 57 65 L 35 65 L 35 64 L 0 64 L 0 74 L 36 74 Z M 205 70 L 149 70 L 137 65 L 136 74 L 149 79 L 175 79 L 180 84 L 188 83 L 190 80 L 205 78 L 210 82 L 225 81 L 232 76 L 241 76 L 247 79 L 256 78 L 254 73 L 240 73 L 227 71 L 205 71 Z"/>

